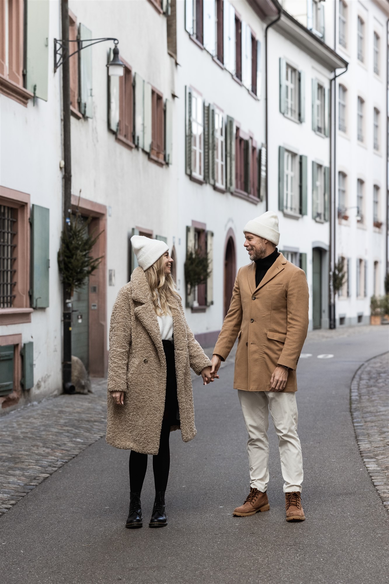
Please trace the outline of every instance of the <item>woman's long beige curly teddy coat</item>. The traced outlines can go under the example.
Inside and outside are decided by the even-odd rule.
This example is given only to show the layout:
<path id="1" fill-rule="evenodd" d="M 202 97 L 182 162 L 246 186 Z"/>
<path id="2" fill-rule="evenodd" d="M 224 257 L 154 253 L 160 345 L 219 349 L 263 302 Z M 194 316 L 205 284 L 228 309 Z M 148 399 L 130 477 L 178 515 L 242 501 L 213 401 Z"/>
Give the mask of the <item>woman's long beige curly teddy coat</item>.
<path id="1" fill-rule="evenodd" d="M 196 436 L 190 367 L 199 375 L 211 361 L 194 339 L 179 298 L 171 296 L 180 426 L 184 442 Z M 124 405 L 110 391 L 124 391 Z M 109 330 L 107 443 L 158 454 L 165 408 L 166 359 L 150 287 L 141 267 L 119 290 Z"/>

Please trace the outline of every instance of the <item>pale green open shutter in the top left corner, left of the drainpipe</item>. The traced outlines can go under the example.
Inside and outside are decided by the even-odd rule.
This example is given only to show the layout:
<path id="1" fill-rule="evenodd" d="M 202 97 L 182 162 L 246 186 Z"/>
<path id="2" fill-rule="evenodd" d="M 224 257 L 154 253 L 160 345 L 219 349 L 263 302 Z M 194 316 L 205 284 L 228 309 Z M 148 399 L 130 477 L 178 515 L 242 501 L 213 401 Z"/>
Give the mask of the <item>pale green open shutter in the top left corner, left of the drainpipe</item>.
<path id="1" fill-rule="evenodd" d="M 27 0 L 26 88 L 47 102 L 48 88 L 48 0 Z M 74 44 L 74 43 L 71 43 Z"/>

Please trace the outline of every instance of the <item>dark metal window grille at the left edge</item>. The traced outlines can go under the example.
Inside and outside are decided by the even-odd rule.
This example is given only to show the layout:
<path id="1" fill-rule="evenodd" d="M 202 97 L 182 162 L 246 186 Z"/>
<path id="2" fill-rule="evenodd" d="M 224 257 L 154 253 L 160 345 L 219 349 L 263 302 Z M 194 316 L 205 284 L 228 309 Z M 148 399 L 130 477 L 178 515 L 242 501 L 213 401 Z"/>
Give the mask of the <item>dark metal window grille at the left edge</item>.
<path id="1" fill-rule="evenodd" d="M 15 298 L 15 215 L 16 209 L 0 205 L 0 308 L 12 308 Z"/>

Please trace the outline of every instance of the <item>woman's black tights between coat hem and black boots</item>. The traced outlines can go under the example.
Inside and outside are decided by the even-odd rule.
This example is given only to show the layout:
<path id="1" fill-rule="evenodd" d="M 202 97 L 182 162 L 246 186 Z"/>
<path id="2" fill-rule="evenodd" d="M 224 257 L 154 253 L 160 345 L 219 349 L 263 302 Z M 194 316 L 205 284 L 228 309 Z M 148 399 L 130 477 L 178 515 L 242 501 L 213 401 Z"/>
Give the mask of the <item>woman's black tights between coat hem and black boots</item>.
<path id="1" fill-rule="evenodd" d="M 162 422 L 161 438 L 159 439 L 158 454 L 152 457 L 152 470 L 154 471 L 155 491 L 166 491 L 170 467 L 170 422 Z M 140 493 L 147 470 L 147 454 L 140 454 L 135 450 L 130 452 L 128 463 L 130 470 L 130 491 Z"/>

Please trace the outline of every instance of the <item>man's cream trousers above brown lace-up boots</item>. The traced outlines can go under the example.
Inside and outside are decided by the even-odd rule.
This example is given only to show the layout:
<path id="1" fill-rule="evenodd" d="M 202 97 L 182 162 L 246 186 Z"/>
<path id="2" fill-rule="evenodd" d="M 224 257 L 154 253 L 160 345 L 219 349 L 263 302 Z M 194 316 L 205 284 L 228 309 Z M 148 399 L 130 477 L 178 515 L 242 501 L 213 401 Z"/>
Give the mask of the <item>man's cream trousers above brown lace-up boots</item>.
<path id="1" fill-rule="evenodd" d="M 250 486 L 265 492 L 269 483 L 269 411 L 278 436 L 284 493 L 301 492 L 303 457 L 297 434 L 294 392 L 238 390 L 246 430 Z"/>

